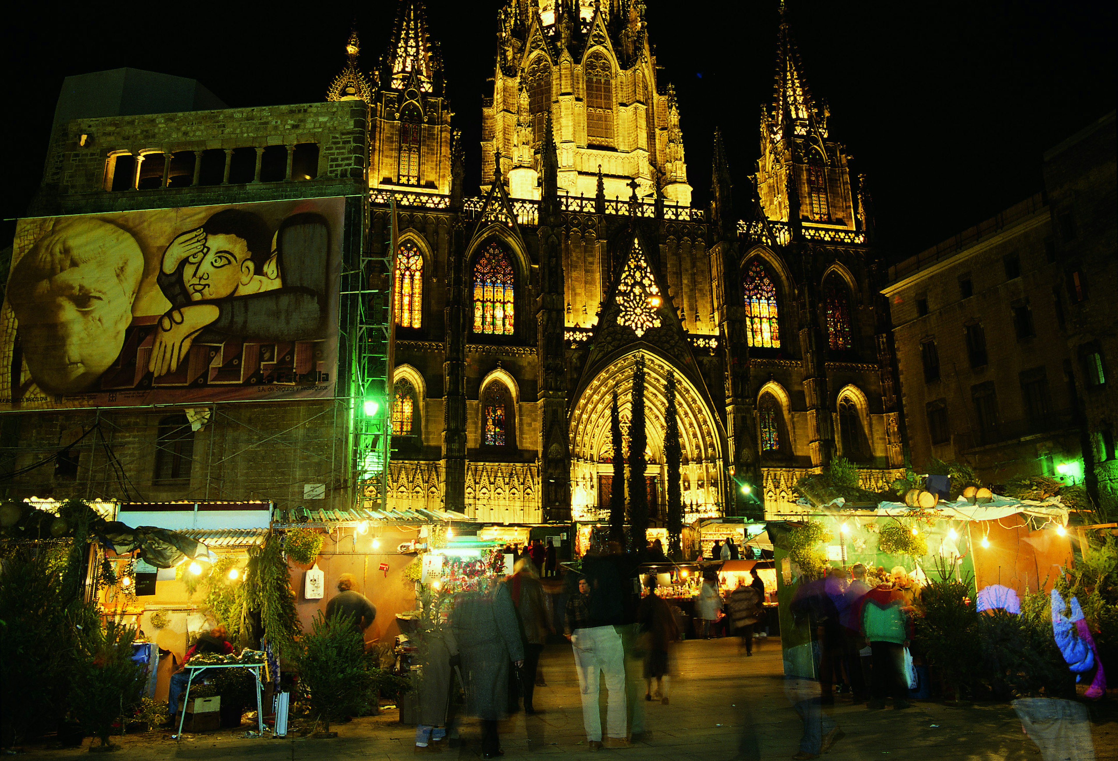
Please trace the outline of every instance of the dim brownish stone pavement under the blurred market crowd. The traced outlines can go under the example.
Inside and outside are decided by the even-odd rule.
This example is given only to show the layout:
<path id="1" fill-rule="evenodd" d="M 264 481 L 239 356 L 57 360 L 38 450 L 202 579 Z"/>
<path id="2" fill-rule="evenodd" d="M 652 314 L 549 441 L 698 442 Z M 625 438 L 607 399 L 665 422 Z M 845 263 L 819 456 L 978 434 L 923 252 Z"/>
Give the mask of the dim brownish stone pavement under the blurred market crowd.
<path id="1" fill-rule="evenodd" d="M 762 640 L 764 643 L 764 640 Z M 777 641 L 761 644 L 751 658 L 738 653 L 736 639 L 690 640 L 676 649 L 676 670 L 671 704 L 645 702 L 647 741 L 632 749 L 603 750 L 601 754 L 641 759 L 683 761 L 730 761 L 739 759 L 790 759 L 798 750 L 802 723 L 784 692 L 780 653 Z M 574 657 L 567 645 L 549 645 L 541 658 L 548 682 L 538 687 L 537 716 L 522 713 L 502 723 L 505 761 L 539 758 L 566 761 L 587 758 L 586 735 L 579 702 Z M 1112 701 L 1111 701 L 1112 702 Z M 603 702 L 603 713 L 604 713 Z M 827 754 L 827 761 L 922 761 L 959 759 L 987 761 L 1012 759 L 1040 761 L 1036 745 L 1022 733 L 1013 708 L 1007 704 L 978 704 L 950 708 L 930 701 L 917 702 L 907 711 L 869 711 L 853 706 L 842 697 L 828 713 L 846 733 Z M 1118 758 L 1118 712 L 1103 705 L 1102 719 L 1092 725 L 1096 759 Z M 398 761 L 427 758 L 432 753 L 414 751 L 414 727 L 399 724 L 395 710 L 379 716 L 356 719 L 331 729 L 338 739 L 312 740 L 244 739 L 239 731 L 184 736 L 181 743 L 169 734 L 150 733 L 117 738 L 120 755 L 151 761 L 163 759 L 255 759 L 302 761 L 303 759 L 361 759 Z M 603 717 L 603 723 L 605 720 Z M 480 730 L 465 720 L 464 743 L 438 754 L 442 761 L 480 758 Z M 756 741 L 759 755 L 749 752 Z M 36 759 L 83 758 L 82 749 L 28 749 Z M 120 758 L 117 755 L 117 758 Z M 600 755 L 598 758 L 601 758 Z"/>

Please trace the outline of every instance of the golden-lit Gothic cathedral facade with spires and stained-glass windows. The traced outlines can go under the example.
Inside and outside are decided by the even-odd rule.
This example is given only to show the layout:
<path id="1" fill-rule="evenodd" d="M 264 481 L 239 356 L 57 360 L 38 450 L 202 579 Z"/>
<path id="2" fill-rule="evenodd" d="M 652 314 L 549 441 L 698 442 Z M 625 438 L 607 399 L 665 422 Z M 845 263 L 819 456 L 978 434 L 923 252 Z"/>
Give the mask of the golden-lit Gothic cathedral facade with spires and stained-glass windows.
<path id="1" fill-rule="evenodd" d="M 480 188 L 464 187 L 419 0 L 401 0 L 369 73 L 352 35 L 328 92 L 364 101 L 372 125 L 366 240 L 391 263 L 389 506 L 603 517 L 610 402 L 626 430 L 638 356 L 653 525 L 669 373 L 686 521 L 795 512 L 795 481 L 835 457 L 866 486 L 891 479 L 900 405 L 869 198 L 786 19 L 756 171 L 732 182 L 721 148 L 751 129 L 702 136 L 704 208 L 642 2 L 508 0 L 496 27 Z"/>

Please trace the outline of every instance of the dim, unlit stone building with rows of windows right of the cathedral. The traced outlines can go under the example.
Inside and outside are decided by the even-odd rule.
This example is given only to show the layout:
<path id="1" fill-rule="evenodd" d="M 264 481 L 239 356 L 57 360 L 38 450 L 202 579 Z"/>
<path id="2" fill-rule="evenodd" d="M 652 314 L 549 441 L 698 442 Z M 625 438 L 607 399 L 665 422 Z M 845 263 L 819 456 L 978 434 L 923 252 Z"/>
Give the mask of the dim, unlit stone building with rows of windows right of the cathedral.
<path id="1" fill-rule="evenodd" d="M 1045 192 L 889 270 L 912 464 L 1086 483 L 1115 504 L 1107 383 L 1115 246 L 1114 114 L 1044 155 Z M 1086 481 L 1084 481 L 1086 479 Z"/>

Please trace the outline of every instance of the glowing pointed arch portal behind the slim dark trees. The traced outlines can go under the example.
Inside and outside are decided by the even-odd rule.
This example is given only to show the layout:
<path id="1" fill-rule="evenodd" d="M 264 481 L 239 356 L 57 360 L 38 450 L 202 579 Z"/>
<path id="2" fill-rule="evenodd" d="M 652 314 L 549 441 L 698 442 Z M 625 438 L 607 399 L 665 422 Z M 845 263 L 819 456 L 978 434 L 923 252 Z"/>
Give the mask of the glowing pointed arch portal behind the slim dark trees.
<path id="1" fill-rule="evenodd" d="M 667 371 L 673 369 L 676 379 L 680 447 L 683 454 L 680 481 L 686 512 L 684 520 L 721 515 L 724 505 L 723 445 L 716 413 L 703 401 L 703 393 L 679 368 L 672 368 L 656 354 L 637 349 L 604 368 L 586 386 L 571 408 L 571 510 L 575 520 L 597 520 L 608 511 L 608 504 L 603 503 L 599 497 L 599 477 L 608 478 L 613 475 L 613 465 L 606 462 L 612 451 L 609 406 L 616 388 L 622 419 L 627 419 L 632 413 L 633 368 L 637 354 L 643 354 L 645 361 L 645 425 L 650 454 L 646 477 L 656 479 L 663 504 L 662 489 L 666 483 L 665 389 Z M 604 457 L 603 453 L 607 456 Z"/>

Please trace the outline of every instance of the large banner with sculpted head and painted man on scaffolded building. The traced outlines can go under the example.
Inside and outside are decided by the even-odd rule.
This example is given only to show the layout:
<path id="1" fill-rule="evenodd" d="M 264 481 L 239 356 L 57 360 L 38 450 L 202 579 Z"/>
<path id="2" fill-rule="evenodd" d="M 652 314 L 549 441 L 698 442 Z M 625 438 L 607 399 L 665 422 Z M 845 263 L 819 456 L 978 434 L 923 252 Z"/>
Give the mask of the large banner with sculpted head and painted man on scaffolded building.
<path id="1" fill-rule="evenodd" d="M 19 220 L 0 411 L 332 397 L 344 204 Z"/>

